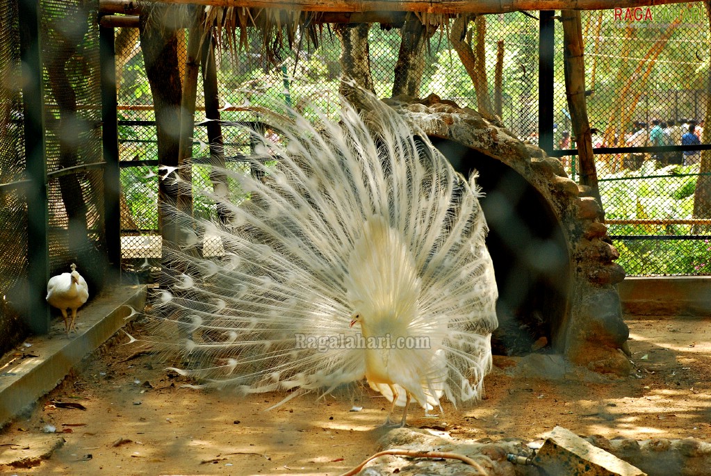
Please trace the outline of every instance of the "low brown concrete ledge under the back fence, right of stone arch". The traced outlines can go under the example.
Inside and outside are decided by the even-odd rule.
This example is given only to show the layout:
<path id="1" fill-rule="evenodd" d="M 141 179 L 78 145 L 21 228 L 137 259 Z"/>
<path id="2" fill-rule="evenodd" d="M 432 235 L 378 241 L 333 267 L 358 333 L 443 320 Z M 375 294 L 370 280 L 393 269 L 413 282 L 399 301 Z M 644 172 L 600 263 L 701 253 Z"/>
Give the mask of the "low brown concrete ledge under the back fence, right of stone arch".
<path id="1" fill-rule="evenodd" d="M 617 289 L 627 314 L 711 315 L 711 276 L 631 276 Z"/>

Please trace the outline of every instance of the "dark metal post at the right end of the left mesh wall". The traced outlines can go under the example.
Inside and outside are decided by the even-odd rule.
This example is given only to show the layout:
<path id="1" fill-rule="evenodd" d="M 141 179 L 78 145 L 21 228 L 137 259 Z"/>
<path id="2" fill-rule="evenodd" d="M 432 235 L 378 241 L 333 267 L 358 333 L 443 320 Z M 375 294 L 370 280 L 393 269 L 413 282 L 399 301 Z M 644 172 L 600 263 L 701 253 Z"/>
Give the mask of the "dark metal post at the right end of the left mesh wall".
<path id="1" fill-rule="evenodd" d="M 119 170 L 119 125 L 116 84 L 116 48 L 114 28 L 100 26 L 99 48 L 101 62 L 101 121 L 104 168 L 104 210 L 106 246 L 109 266 L 121 269 L 121 184 Z"/>

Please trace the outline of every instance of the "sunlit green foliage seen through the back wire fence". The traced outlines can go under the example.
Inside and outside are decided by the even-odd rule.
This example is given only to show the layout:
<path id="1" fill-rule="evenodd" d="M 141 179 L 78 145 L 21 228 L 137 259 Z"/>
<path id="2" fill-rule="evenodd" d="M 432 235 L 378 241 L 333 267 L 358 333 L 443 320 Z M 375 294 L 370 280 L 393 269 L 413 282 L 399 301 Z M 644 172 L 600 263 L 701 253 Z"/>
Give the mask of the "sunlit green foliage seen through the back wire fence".
<path id="1" fill-rule="evenodd" d="M 687 26 L 699 22 L 705 25 L 705 17 L 697 14 L 703 13 L 702 4 L 661 5 L 652 9 L 655 22 L 659 24 L 671 23 L 679 15 L 685 15 Z M 584 38 L 588 80 L 592 75 L 593 64 L 596 65 L 594 91 L 587 98 L 589 118 L 592 126 L 604 129 L 615 107 L 615 99 L 663 28 L 635 28 L 634 31 L 627 31 L 624 24 L 615 20 L 614 11 L 608 10 L 602 12 L 602 28 L 596 37 L 593 32 L 594 21 L 597 21 L 599 14 L 598 11 L 584 12 L 582 21 L 583 27 L 588 28 Z M 489 93 L 493 94 L 496 48 L 497 42 L 501 40 L 504 45 L 503 123 L 514 134 L 528 136 L 538 127 L 538 21 L 524 13 L 512 12 L 489 15 L 486 23 Z M 560 133 L 563 129 L 570 130 L 570 119 L 565 115 L 567 101 L 562 67 L 562 27 L 560 21 L 555 23 L 556 63 L 552 78 L 555 97 L 552 107 Z M 678 28 L 670 36 L 653 64 L 646 85 L 633 88 L 632 94 L 641 92 L 641 87 L 646 88 L 648 94 L 638 98 L 636 116 L 631 120 L 648 120 L 656 114 L 662 119 L 695 114 L 699 98 L 695 98 L 693 92 L 699 89 L 699 85 L 706 84 L 708 48 L 704 42 L 707 42 L 708 28 L 703 26 L 692 29 L 687 26 Z M 474 28 L 474 23 L 470 23 L 469 28 Z M 444 99 L 454 99 L 461 106 L 476 107 L 474 85 L 461 65 L 459 56 L 451 49 L 448 33 L 445 28 L 429 40 L 420 97 L 434 93 Z M 370 29 L 369 40 L 375 90 L 379 96 L 388 97 L 392 91 L 400 34 L 396 28 L 383 29 L 374 25 Z M 599 50 L 596 50 L 598 41 Z M 704 43 L 704 46 L 700 46 L 700 43 Z M 630 46 L 626 55 L 621 54 L 624 45 Z M 262 50 L 260 34 L 250 32 L 247 51 L 221 53 L 218 60 L 218 82 L 222 105 L 252 104 L 279 109 L 280 104 L 287 104 L 288 98 L 293 107 L 311 119 L 316 119 L 309 113 L 312 106 L 323 109 L 331 117 L 337 117 L 340 110 L 338 86 L 341 65 L 338 57 L 341 45 L 335 34 L 326 33 L 319 48 L 294 51 L 278 65 L 266 63 Z M 286 77 L 282 66 L 286 67 Z M 200 82 L 198 84 L 198 101 L 202 101 L 202 85 Z M 657 94 L 660 91 L 675 92 L 675 95 Z M 119 104 L 151 104 L 142 55 L 136 55 L 124 67 Z M 285 111 L 284 107 L 282 112 Z M 204 119 L 201 114 L 204 113 L 198 109 L 197 121 Z M 675 117 L 668 117 L 673 115 Z M 121 112 L 119 119 L 151 120 L 153 117 L 152 112 L 127 110 Z M 251 121 L 259 120 L 260 114 L 223 110 L 221 117 L 227 121 Z M 241 129 L 225 126 L 223 136 L 228 155 L 249 151 L 249 137 Z M 556 136 L 556 139 L 559 137 Z M 121 124 L 119 139 L 122 160 L 149 161 L 157 158 L 154 127 Z M 207 136 L 204 128 L 196 128 L 195 139 L 201 141 L 203 146 L 196 145 L 193 156 L 206 156 L 208 152 L 205 151 L 204 143 L 207 142 Z M 645 217 L 685 219 L 693 216 L 696 177 L 683 175 L 693 174 L 697 168 L 673 166 L 656 170 L 654 166 L 654 163 L 649 162 L 640 171 L 624 171 L 603 177 L 600 186 L 606 217 L 633 220 Z M 158 182 L 150 176 L 151 171 L 157 173 L 156 168 L 122 169 L 124 194 L 139 228 L 154 229 L 158 226 Z M 193 180 L 196 188 L 210 187 L 208 167 L 196 166 Z M 230 190 L 236 202 L 248 199 L 241 195 L 237 183 L 230 183 Z M 201 215 L 215 213 L 215 206 L 198 195 L 193 206 L 196 213 Z M 690 225 L 611 225 L 609 232 L 616 235 L 684 235 L 692 233 L 693 229 Z M 707 270 L 698 256 L 709 256 L 709 253 L 700 243 L 700 240 L 618 240 L 616 245 L 622 255 L 619 262 L 629 274 L 643 274 L 649 269 L 660 270 L 655 271 L 660 274 L 708 274 L 711 271 Z"/>

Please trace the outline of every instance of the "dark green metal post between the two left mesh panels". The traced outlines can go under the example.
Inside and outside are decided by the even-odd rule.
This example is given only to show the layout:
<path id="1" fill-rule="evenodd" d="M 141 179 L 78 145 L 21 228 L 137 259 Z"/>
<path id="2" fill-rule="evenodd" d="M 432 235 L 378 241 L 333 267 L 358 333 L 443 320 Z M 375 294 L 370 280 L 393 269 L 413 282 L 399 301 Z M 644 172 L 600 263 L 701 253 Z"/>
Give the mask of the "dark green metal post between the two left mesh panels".
<path id="1" fill-rule="evenodd" d="M 28 303 L 24 318 L 30 330 L 45 334 L 50 328 L 49 305 L 45 301 L 49 279 L 48 188 L 44 136 L 44 90 L 42 47 L 39 36 L 38 0 L 18 1 L 20 55 L 22 60 L 23 125 L 27 178 L 28 218 Z"/>

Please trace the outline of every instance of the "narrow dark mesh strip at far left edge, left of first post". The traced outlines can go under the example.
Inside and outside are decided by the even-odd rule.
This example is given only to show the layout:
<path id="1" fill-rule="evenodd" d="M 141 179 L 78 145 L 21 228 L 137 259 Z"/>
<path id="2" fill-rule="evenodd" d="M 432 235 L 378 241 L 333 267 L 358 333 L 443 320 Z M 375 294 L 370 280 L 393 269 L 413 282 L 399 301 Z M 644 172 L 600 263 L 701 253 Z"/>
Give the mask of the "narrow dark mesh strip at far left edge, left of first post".
<path id="1" fill-rule="evenodd" d="M 14 303 L 26 301 L 27 208 L 16 0 L 0 1 L 0 355 L 23 338 Z"/>

